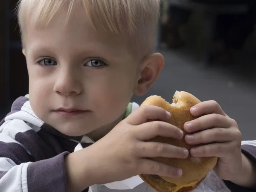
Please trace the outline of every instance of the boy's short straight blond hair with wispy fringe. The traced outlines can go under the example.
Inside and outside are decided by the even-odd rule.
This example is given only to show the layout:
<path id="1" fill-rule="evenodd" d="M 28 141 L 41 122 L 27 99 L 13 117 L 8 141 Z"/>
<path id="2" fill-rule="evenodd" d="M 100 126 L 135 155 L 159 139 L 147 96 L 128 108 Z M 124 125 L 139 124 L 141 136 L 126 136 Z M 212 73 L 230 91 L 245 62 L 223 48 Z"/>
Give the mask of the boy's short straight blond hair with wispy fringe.
<path id="1" fill-rule="evenodd" d="M 134 51 L 144 56 L 153 52 L 160 0 L 20 0 L 17 13 L 21 36 L 28 21 L 47 27 L 64 5 L 69 7 L 67 21 L 73 9 L 82 6 L 93 26 L 127 35 Z"/>

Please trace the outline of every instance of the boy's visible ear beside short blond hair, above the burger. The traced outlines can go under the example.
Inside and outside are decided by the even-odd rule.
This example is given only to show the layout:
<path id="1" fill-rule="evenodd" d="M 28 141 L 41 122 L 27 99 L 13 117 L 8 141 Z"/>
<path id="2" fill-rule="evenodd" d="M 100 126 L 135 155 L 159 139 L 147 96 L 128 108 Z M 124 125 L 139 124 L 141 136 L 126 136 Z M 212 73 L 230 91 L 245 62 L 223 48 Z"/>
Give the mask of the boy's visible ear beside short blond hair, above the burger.
<path id="1" fill-rule="evenodd" d="M 163 70 L 164 58 L 160 53 L 154 53 L 146 57 L 140 64 L 139 80 L 134 87 L 136 96 L 143 96 L 148 92 L 152 84 Z"/>

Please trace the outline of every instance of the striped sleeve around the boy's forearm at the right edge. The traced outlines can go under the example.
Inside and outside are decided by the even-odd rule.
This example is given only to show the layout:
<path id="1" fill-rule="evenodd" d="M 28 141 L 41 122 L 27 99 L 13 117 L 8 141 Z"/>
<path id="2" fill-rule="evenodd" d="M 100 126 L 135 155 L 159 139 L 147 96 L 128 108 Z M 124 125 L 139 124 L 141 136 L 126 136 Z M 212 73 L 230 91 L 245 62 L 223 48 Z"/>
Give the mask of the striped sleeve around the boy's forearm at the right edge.
<path id="1" fill-rule="evenodd" d="M 242 153 L 246 155 L 250 160 L 253 160 L 256 162 L 256 140 L 254 141 L 243 141 L 242 142 Z M 230 181 L 224 180 L 224 183 L 226 186 L 232 191 L 232 192 L 256 192 L 256 190 L 253 189 L 247 189 L 241 186 L 236 185 L 235 183 L 232 183 Z"/>

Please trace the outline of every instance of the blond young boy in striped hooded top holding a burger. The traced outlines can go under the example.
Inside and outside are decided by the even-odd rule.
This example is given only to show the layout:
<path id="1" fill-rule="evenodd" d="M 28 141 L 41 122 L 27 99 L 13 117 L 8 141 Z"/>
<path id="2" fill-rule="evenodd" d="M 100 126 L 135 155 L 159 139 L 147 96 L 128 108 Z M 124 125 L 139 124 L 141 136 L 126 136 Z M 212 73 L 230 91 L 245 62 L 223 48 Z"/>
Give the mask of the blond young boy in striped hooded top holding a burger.
<path id="1" fill-rule="evenodd" d="M 1 192 L 81 192 L 139 174 L 182 174 L 147 158 L 187 157 L 186 149 L 145 142 L 183 137 L 164 122 L 171 114 L 129 104 L 163 68 L 152 53 L 158 13 L 159 0 L 20 0 L 29 96 L 0 123 Z M 241 153 L 238 126 L 216 102 L 191 113 L 204 116 L 184 125 L 193 136 L 186 142 L 205 145 L 190 153 L 219 157 L 218 177 L 255 189 L 255 142 Z"/>

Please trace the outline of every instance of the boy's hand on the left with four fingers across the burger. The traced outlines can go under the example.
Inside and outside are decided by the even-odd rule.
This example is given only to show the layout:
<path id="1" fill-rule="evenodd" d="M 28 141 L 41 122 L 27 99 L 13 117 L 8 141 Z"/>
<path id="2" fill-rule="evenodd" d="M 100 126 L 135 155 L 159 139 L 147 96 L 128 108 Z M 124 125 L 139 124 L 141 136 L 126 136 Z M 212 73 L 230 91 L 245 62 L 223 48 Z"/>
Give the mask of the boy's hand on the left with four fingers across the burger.
<path id="1" fill-rule="evenodd" d="M 182 170 L 148 159 L 188 156 L 189 151 L 185 148 L 146 142 L 157 136 L 182 139 L 183 132 L 165 122 L 170 116 L 169 112 L 160 107 L 140 107 L 101 140 L 78 151 L 83 153 L 84 163 L 80 162 L 87 172 L 83 180 L 90 178 L 92 185 L 111 183 L 140 174 L 180 177 Z"/>

